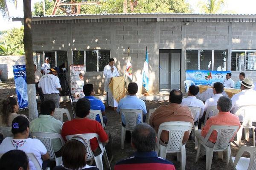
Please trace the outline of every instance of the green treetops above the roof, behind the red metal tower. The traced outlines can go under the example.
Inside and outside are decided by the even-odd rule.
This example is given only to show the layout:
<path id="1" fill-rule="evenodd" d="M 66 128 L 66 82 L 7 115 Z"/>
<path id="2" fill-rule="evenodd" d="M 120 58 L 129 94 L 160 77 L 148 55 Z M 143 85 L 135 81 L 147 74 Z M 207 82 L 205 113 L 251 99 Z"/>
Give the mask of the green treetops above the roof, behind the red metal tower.
<path id="1" fill-rule="evenodd" d="M 81 1 L 81 0 L 80 0 Z M 128 13 L 131 13 L 129 0 Z M 87 0 L 87 2 L 99 2 L 97 5 L 82 5 L 81 14 L 103 14 L 103 13 L 123 13 L 124 0 Z M 46 14 L 50 15 L 54 5 L 54 0 L 45 0 Z M 60 9 L 58 14 L 65 14 Z M 135 13 L 189 13 L 189 3 L 185 0 L 137 0 L 134 7 Z M 43 3 L 35 3 L 33 16 L 43 16 Z"/>

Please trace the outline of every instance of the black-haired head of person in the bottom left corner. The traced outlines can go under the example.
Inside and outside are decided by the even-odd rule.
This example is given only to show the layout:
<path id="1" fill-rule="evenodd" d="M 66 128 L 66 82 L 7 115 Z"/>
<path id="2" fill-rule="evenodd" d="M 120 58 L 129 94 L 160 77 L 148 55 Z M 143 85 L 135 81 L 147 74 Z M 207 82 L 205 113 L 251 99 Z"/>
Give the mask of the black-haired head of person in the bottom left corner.
<path id="1" fill-rule="evenodd" d="M 29 170 L 29 160 L 22 150 L 10 150 L 0 159 L 0 170 Z"/>

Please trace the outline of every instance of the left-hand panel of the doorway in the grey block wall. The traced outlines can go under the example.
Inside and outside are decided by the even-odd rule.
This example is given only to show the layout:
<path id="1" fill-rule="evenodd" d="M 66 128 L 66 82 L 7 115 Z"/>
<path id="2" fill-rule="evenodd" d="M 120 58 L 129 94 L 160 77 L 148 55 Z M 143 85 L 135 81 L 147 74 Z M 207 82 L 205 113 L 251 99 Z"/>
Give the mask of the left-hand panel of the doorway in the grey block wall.
<path id="1" fill-rule="evenodd" d="M 160 85 L 168 85 L 169 53 L 159 54 Z"/>

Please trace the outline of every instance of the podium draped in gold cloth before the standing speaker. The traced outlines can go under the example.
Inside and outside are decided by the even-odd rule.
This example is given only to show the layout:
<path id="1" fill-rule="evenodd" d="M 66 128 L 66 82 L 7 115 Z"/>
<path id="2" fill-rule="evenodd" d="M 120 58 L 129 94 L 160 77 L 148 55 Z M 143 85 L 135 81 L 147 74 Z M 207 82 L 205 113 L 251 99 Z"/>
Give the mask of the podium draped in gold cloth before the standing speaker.
<path id="1" fill-rule="evenodd" d="M 112 77 L 108 87 L 108 105 L 115 108 L 125 96 L 125 77 Z"/>

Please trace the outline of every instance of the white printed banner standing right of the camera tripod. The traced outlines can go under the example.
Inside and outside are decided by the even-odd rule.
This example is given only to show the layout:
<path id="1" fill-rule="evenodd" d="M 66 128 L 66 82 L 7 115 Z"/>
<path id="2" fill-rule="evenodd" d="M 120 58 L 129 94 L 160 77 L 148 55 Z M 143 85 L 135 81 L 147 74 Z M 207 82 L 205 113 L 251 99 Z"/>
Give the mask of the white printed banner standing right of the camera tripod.
<path id="1" fill-rule="evenodd" d="M 84 97 L 84 65 L 70 65 L 70 87 L 73 102 Z"/>

